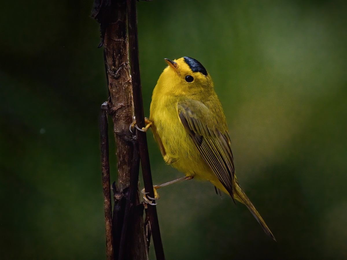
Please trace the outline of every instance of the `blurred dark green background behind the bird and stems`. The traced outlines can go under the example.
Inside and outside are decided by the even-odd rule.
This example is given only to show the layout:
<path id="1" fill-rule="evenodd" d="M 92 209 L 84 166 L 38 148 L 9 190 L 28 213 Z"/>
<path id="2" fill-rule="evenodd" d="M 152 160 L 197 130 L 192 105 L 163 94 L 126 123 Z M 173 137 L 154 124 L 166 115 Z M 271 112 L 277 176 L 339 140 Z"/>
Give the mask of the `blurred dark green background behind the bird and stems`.
<path id="1" fill-rule="evenodd" d="M 0 259 L 105 258 L 98 120 L 108 92 L 92 4 L 2 3 Z M 145 114 L 163 59 L 199 60 L 239 182 L 277 239 L 212 184 L 187 181 L 160 190 L 167 259 L 346 259 L 346 2 L 137 8 Z M 147 136 L 153 182 L 183 176 Z"/>

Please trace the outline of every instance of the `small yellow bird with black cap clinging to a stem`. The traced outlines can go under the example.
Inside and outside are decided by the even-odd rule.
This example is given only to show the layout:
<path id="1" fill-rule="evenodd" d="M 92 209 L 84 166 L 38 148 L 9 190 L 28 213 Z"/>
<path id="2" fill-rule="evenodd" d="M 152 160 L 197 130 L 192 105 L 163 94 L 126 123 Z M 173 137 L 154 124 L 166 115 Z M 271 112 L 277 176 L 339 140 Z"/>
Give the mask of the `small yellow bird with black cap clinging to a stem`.
<path id="1" fill-rule="evenodd" d="M 208 180 L 245 204 L 265 233 L 276 241 L 238 184 L 227 122 L 210 74 L 193 58 L 165 61 L 169 66 L 153 90 L 150 119 L 143 129 L 135 126 L 142 131 L 151 127 L 164 161 L 186 176 L 154 188 L 192 178 Z"/>

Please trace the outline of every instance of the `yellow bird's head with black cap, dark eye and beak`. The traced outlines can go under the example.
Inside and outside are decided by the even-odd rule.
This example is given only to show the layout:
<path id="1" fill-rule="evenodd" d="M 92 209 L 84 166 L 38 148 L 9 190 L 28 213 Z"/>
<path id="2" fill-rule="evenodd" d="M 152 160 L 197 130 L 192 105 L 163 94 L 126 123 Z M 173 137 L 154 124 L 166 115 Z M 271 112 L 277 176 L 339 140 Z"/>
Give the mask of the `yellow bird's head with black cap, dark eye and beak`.
<path id="1" fill-rule="evenodd" d="M 155 88 L 169 96 L 202 95 L 213 91 L 210 74 L 200 62 L 189 57 L 165 59 L 168 67 L 161 73 Z"/>

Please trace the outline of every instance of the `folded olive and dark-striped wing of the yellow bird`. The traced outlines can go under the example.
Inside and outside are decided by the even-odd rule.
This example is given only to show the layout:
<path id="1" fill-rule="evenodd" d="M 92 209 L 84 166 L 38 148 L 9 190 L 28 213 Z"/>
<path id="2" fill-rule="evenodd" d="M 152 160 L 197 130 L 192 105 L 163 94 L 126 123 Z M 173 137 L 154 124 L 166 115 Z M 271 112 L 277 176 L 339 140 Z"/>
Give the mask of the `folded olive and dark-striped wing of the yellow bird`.
<path id="1" fill-rule="evenodd" d="M 179 118 L 200 154 L 233 196 L 234 163 L 227 129 L 217 129 L 218 118 L 203 103 L 192 99 L 177 105 Z M 221 132 L 223 131 L 223 132 Z M 234 201 L 235 202 L 235 201 Z"/>

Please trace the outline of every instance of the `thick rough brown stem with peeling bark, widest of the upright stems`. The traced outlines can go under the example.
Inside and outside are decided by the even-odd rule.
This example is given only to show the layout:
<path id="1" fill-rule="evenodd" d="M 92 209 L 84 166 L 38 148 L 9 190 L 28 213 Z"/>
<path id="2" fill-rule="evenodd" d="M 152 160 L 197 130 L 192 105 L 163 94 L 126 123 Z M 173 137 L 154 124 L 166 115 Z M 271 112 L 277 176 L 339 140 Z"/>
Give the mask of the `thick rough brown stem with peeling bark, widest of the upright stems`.
<path id="1" fill-rule="evenodd" d="M 115 201 L 112 223 L 109 223 L 109 218 L 105 220 L 107 257 L 147 260 L 143 206 L 140 204 L 138 207 L 138 142 L 129 131 L 129 125 L 134 117 L 134 105 L 128 65 L 126 3 L 122 0 L 95 0 L 92 16 L 100 23 L 102 42 L 99 47 L 104 45 L 105 70 L 110 95 L 107 105 L 113 121 L 118 158 L 118 183 L 112 186 Z M 102 118 L 105 120 L 104 114 Z M 105 121 L 103 128 L 106 128 Z M 106 140 L 104 135 L 103 140 Z M 107 144 L 103 149 L 106 148 Z M 107 152 L 103 150 L 103 162 L 108 161 L 106 155 Z M 107 185 L 109 186 L 109 181 Z M 109 217 L 109 206 L 105 214 Z M 112 237 L 109 238 L 110 227 L 113 236 L 113 258 L 109 245 L 112 241 Z"/>

